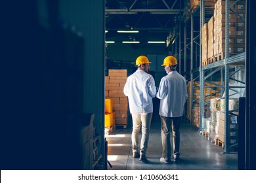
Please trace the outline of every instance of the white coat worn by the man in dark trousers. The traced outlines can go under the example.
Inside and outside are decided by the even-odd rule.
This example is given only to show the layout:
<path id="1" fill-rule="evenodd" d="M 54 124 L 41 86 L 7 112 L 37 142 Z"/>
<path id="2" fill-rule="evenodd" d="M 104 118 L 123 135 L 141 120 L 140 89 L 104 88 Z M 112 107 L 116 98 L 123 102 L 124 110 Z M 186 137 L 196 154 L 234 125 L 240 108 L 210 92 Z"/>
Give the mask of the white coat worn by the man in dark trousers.
<path id="1" fill-rule="evenodd" d="M 180 117 L 183 114 L 184 104 L 188 99 L 185 78 L 172 71 L 161 78 L 158 93 L 156 94 L 160 101 L 160 116 Z"/>

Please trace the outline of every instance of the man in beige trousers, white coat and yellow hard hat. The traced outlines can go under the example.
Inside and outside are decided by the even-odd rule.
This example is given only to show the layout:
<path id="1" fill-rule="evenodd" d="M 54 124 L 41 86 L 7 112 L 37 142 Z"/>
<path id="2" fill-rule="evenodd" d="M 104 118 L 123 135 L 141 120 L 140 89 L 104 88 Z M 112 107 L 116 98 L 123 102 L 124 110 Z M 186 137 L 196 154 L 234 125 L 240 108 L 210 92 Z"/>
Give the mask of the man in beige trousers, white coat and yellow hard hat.
<path id="1" fill-rule="evenodd" d="M 148 138 L 150 124 L 153 114 L 152 98 L 156 97 L 155 80 L 149 75 L 151 62 L 146 56 L 139 56 L 136 59 L 137 71 L 127 78 L 123 93 L 128 97 L 129 109 L 133 118 L 133 132 L 131 141 L 133 145 L 133 158 L 146 163 L 146 149 L 148 148 Z M 140 141 L 140 151 L 138 150 L 140 125 L 142 125 L 142 137 Z"/>

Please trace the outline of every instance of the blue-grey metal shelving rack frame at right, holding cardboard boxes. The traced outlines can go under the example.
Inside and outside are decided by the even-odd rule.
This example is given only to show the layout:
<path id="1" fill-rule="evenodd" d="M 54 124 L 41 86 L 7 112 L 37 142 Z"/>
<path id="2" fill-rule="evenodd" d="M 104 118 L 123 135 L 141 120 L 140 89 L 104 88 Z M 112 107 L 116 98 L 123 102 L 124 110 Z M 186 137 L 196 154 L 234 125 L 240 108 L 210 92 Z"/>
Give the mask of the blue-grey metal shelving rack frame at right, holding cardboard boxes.
<path id="1" fill-rule="evenodd" d="M 238 0 L 239 1 L 239 0 Z M 232 5 L 237 3 L 238 1 L 235 1 Z M 228 110 L 228 98 L 230 97 L 229 95 L 229 90 L 236 91 L 237 93 L 240 93 L 242 95 L 241 89 L 245 88 L 241 84 L 245 84 L 241 80 L 241 71 L 244 69 L 245 65 L 245 52 L 242 52 L 241 54 L 237 54 L 234 56 L 229 56 L 229 48 L 228 48 L 228 41 L 229 41 L 229 14 L 230 10 L 234 12 L 230 8 L 230 3 L 228 0 L 226 0 L 226 6 L 225 6 L 225 56 L 224 59 L 216 61 L 214 63 L 211 63 L 209 65 L 202 65 L 202 44 L 201 44 L 201 28 L 203 24 L 205 24 L 205 1 L 201 0 L 200 4 L 198 7 L 194 10 L 194 12 L 191 13 L 190 15 L 190 22 L 191 22 L 191 39 L 190 39 L 190 81 L 191 81 L 191 88 L 190 88 L 190 99 L 192 100 L 190 103 L 190 114 L 192 114 L 192 105 L 196 100 L 193 99 L 193 81 L 196 80 L 198 77 L 194 77 L 199 72 L 199 77 L 200 77 L 200 133 L 202 133 L 202 122 L 204 119 L 204 107 L 205 107 L 205 102 L 204 102 L 204 88 L 205 88 L 205 82 L 207 82 L 207 78 L 210 76 L 215 75 L 215 73 L 221 72 L 221 83 L 222 85 L 217 85 L 216 87 L 221 88 L 221 94 L 224 93 L 224 119 L 225 119 L 225 134 L 228 134 L 228 114 L 234 112 L 234 110 L 229 111 Z M 197 11 L 200 10 L 200 67 L 194 69 L 194 14 L 198 13 Z M 234 12 L 236 14 L 236 12 Z M 240 17 L 239 14 L 237 16 Z M 242 18 L 242 17 L 240 17 Z M 188 44 L 186 44 L 186 24 L 184 27 L 184 60 L 186 61 L 186 48 Z M 186 63 L 185 63 L 186 65 Z M 230 75 L 230 68 L 232 68 L 233 65 L 235 66 L 236 71 Z M 224 70 L 224 81 L 223 81 L 223 70 Z M 206 75 L 207 74 L 207 75 Z M 206 76 L 205 76 L 206 75 Z M 236 78 L 232 78 L 232 76 L 236 75 Z M 238 82 L 238 86 L 229 86 L 230 80 L 235 80 Z M 223 85 L 224 82 L 224 85 Z M 236 90 L 238 89 L 238 91 Z M 238 109 L 235 109 L 238 110 Z M 230 152 L 230 144 L 228 143 L 228 135 L 225 135 L 224 138 L 224 153 L 229 153 Z"/>

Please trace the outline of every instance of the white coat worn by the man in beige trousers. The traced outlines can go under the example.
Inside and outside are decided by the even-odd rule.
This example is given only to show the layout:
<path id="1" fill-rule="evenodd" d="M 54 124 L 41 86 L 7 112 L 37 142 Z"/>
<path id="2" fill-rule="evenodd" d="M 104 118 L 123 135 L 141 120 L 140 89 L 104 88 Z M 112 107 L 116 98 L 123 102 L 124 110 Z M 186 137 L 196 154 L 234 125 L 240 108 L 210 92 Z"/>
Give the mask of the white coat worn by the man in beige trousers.
<path id="1" fill-rule="evenodd" d="M 128 97 L 131 114 L 153 112 L 152 98 L 156 97 L 156 86 L 152 75 L 138 69 L 127 78 L 123 93 Z"/>

